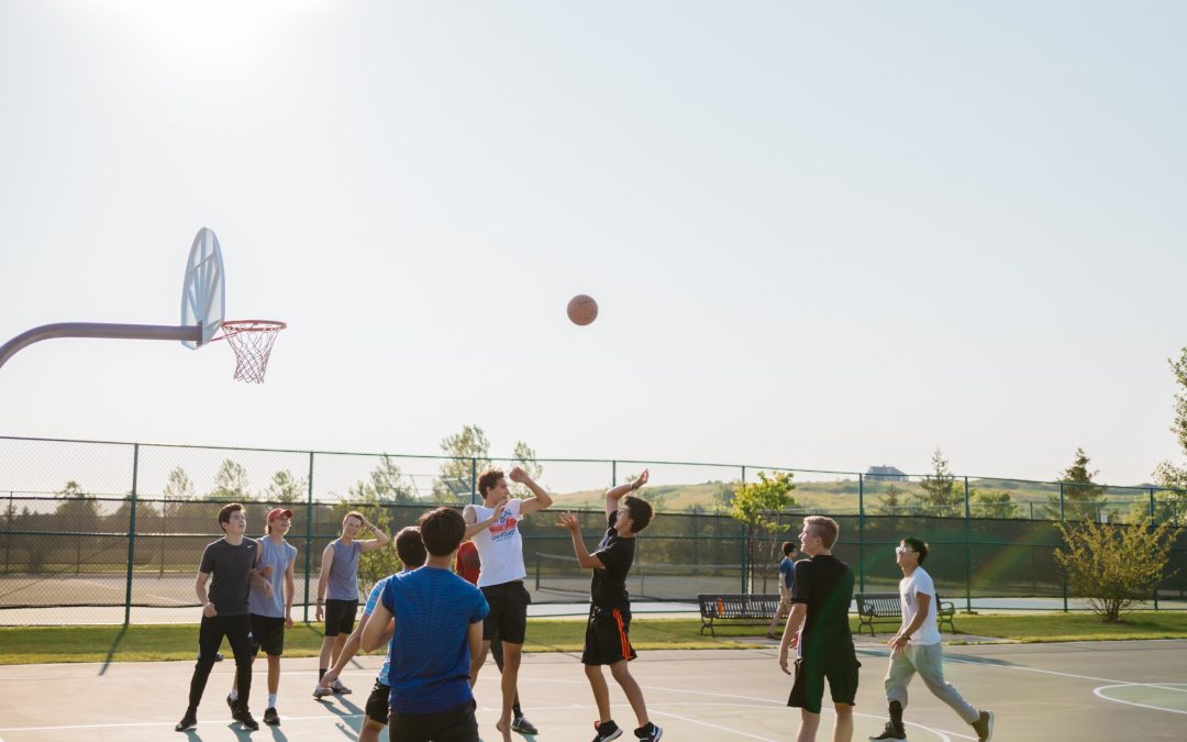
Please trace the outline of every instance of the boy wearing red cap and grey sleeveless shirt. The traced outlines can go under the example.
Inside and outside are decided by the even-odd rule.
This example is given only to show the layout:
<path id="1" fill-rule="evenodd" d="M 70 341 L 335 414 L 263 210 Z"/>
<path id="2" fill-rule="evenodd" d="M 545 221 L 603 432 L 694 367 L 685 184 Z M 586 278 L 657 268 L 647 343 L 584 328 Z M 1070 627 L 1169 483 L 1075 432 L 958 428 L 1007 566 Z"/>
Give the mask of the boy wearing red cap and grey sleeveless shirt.
<path id="1" fill-rule="evenodd" d="M 287 508 L 272 508 L 268 512 L 268 525 L 265 537 L 260 539 L 260 560 L 258 571 L 272 585 L 272 595 L 266 595 L 262 588 L 252 585 L 248 596 L 248 624 L 252 628 L 252 660 L 264 648 L 268 657 L 268 708 L 264 711 L 264 723 L 280 725 L 277 714 L 277 692 L 280 689 L 280 655 L 285 651 L 285 629 L 293 626 L 293 565 L 297 563 L 297 547 L 285 540 L 285 534 L 292 527 L 293 512 Z M 281 585 L 284 592 L 281 594 Z M 231 680 L 227 704 L 235 708 L 239 697 L 239 673 Z"/>

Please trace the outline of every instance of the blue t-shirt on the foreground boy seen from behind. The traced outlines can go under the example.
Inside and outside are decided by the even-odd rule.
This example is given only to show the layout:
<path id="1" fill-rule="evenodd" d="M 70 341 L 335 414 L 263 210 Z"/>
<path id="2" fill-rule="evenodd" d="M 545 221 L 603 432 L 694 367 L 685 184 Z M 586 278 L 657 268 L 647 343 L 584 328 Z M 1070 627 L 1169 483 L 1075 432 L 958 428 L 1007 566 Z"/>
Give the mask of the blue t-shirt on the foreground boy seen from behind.
<path id="1" fill-rule="evenodd" d="M 472 699 L 466 632 L 490 611 L 482 590 L 447 569 L 423 566 L 389 577 L 380 601 L 395 616 L 392 709 L 436 714 Z"/>

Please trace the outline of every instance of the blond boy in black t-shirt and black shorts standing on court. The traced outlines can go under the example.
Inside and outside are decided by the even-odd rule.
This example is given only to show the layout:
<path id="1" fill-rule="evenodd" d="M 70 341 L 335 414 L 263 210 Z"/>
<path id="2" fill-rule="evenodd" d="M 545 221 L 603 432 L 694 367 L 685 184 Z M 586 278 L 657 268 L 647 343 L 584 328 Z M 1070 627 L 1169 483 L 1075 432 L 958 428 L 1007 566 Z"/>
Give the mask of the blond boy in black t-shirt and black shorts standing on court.
<path id="1" fill-rule="evenodd" d="M 787 651 L 799 649 L 795 683 L 787 705 L 800 709 L 796 742 L 814 742 L 820 727 L 824 681 L 829 680 L 837 722 L 833 742 L 853 738 L 853 699 L 857 696 L 857 653 L 849 632 L 853 600 L 853 570 L 832 556 L 837 521 L 820 515 L 804 519 L 800 551 L 811 557 L 795 563 L 792 614 L 779 643 L 779 666 L 787 674 Z"/>

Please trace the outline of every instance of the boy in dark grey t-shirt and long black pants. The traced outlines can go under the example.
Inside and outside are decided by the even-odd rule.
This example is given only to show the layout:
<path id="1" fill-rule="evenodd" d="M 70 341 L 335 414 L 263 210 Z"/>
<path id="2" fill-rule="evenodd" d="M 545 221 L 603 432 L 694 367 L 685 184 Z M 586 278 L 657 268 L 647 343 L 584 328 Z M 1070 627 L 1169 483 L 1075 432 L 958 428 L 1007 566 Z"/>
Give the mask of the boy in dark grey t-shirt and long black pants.
<path id="1" fill-rule="evenodd" d="M 239 673 L 239 699 L 231 709 L 231 717 L 247 729 L 256 730 L 260 724 L 247 710 L 247 699 L 252 693 L 252 638 L 247 617 L 247 598 L 249 585 L 254 584 L 272 597 L 272 585 L 255 571 L 260 558 L 260 545 L 252 539 L 245 539 L 247 515 L 243 506 L 237 502 L 224 505 L 218 510 L 218 527 L 223 538 L 207 546 L 202 553 L 202 565 L 198 578 L 193 583 L 198 602 L 202 603 L 202 626 L 198 629 L 198 662 L 193 666 L 190 680 L 190 704 L 185 716 L 177 723 L 177 731 L 189 731 L 198 725 L 198 704 L 207 689 L 210 670 L 215 666 L 215 655 L 223 636 L 235 653 L 235 670 Z M 207 582 L 210 594 L 207 594 Z"/>

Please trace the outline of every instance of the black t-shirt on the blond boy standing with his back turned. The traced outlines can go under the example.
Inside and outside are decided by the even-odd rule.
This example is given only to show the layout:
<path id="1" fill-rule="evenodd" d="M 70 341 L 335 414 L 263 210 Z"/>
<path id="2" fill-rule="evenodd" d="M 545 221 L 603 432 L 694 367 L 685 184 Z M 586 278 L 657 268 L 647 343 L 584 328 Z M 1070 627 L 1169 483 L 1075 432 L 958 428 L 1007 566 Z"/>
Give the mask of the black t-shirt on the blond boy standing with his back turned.
<path id="1" fill-rule="evenodd" d="M 832 554 L 817 554 L 795 563 L 792 602 L 807 603 L 800 633 L 804 657 L 836 657 L 853 652 L 849 632 L 849 604 L 853 600 L 853 570 Z"/>

